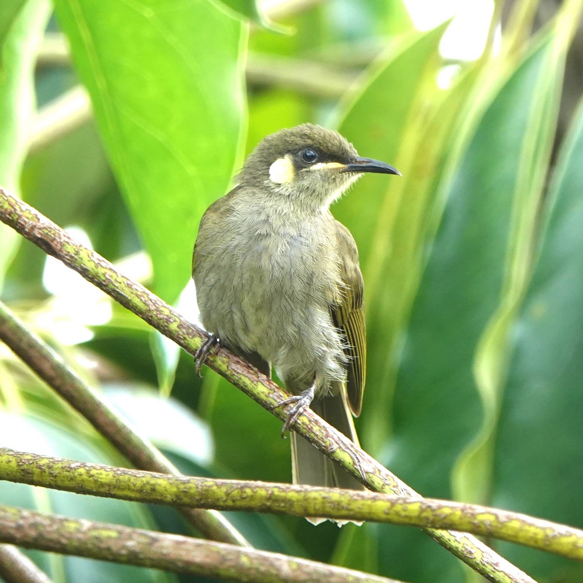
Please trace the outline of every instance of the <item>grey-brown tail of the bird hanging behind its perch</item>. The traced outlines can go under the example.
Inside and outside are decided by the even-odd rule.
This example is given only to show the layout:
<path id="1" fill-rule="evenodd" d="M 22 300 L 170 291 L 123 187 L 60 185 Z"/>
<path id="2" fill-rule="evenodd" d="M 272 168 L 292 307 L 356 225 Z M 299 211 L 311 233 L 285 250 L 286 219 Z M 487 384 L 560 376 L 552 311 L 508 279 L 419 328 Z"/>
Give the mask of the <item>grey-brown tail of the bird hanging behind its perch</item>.
<path id="1" fill-rule="evenodd" d="M 314 399 L 310 408 L 359 445 L 352 413 L 342 394 Z M 294 431 L 291 432 L 291 473 L 294 484 L 364 490 L 364 486 L 355 477 L 326 458 Z"/>

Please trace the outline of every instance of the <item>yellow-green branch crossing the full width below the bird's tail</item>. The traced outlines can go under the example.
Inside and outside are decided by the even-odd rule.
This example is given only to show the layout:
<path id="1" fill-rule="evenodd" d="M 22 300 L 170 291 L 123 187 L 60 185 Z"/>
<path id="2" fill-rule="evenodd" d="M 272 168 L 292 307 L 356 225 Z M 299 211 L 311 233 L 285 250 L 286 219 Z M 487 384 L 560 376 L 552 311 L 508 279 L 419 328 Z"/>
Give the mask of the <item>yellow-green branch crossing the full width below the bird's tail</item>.
<path id="1" fill-rule="evenodd" d="M 583 560 L 583 531 L 518 512 L 371 491 L 168 476 L 0 448 L 0 479 L 147 504 L 455 528 Z"/>

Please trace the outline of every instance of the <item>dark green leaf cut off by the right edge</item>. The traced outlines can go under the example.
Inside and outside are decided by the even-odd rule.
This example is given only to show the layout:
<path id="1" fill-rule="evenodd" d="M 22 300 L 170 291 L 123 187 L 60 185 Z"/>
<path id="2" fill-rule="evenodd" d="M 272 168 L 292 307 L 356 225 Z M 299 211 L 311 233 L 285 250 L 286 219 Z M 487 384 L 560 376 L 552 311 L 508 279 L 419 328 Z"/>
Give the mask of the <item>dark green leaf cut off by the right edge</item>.
<path id="1" fill-rule="evenodd" d="M 512 329 L 491 503 L 583 528 L 583 101 L 557 163 L 546 232 Z M 581 581 L 580 565 L 502 545 L 538 580 Z"/>

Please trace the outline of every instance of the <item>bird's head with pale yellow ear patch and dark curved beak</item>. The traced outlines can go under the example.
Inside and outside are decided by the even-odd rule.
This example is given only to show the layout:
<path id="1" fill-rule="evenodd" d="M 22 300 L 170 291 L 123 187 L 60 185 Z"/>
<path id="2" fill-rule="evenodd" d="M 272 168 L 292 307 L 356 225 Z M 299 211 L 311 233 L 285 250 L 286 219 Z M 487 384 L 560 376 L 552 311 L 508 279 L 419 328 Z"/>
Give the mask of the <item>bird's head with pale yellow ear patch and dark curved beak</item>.
<path id="1" fill-rule="evenodd" d="M 245 161 L 238 182 L 322 209 L 366 172 L 400 174 L 389 164 L 360 157 L 338 132 L 303 124 L 264 138 Z"/>

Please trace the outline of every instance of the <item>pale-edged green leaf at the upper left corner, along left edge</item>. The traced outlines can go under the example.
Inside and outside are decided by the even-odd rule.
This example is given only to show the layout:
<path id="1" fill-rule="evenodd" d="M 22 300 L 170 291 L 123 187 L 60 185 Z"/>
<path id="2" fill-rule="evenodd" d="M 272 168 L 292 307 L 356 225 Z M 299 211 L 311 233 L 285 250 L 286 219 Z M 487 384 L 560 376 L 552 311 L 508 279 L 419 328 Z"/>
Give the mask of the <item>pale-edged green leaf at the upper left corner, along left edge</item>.
<path id="1" fill-rule="evenodd" d="M 0 10 L 0 185 L 18 194 L 34 111 L 33 72 L 47 24 L 46 0 L 10 1 Z M 20 237 L 0 225 L 0 289 Z"/>

